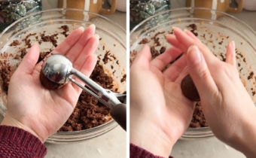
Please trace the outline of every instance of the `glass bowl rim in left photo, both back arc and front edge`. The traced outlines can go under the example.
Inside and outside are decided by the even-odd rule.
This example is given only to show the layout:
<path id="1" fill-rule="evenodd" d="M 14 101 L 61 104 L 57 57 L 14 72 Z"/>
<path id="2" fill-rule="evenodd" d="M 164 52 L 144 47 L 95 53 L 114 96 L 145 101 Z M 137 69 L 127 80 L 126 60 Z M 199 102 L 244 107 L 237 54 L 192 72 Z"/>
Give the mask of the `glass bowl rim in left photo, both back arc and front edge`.
<path id="1" fill-rule="evenodd" d="M 5 28 L 4 31 L 2 31 L 0 33 L 0 38 L 5 35 L 5 33 L 13 26 L 15 26 L 17 23 L 20 23 L 22 22 L 23 20 L 26 20 L 26 18 L 28 17 L 32 17 L 32 16 L 35 16 L 37 14 L 43 14 L 43 13 L 47 13 L 47 12 L 50 12 L 50 11 L 81 11 L 81 12 L 86 12 L 88 14 L 93 14 L 93 15 L 96 15 L 97 17 L 101 17 L 102 19 L 104 20 L 107 20 L 108 22 L 112 23 L 114 26 L 117 26 L 117 29 L 120 29 L 121 32 L 123 32 L 125 35 L 126 35 L 126 31 L 125 29 L 123 29 L 123 27 L 121 27 L 119 24 L 117 23 L 114 23 L 114 21 L 108 19 L 107 17 L 104 17 L 100 14 L 96 14 L 96 13 L 93 13 L 93 12 L 90 12 L 90 11 L 84 11 L 84 10 L 81 10 L 81 9 L 76 9 L 76 8 L 53 8 L 53 9 L 49 9 L 49 10 L 44 10 L 44 11 L 38 11 L 38 12 L 35 12 L 35 13 L 32 13 L 32 14 L 28 14 L 26 15 L 25 17 L 22 17 L 20 18 L 19 20 L 15 21 L 14 23 L 11 23 L 10 26 L 8 26 L 7 28 Z M 126 44 L 126 43 L 125 43 Z M 2 105 L 0 103 L 0 114 L 5 117 L 5 114 L 6 114 L 6 111 L 7 111 L 7 108 L 5 108 L 4 105 Z M 107 126 L 108 123 L 113 123 L 115 122 L 114 119 L 111 119 L 111 120 L 108 120 L 108 122 L 102 124 L 102 125 L 99 125 L 99 126 L 95 126 L 93 128 L 90 128 L 90 129 L 84 129 L 84 130 L 80 130 L 80 131 L 72 131 L 72 132 L 55 132 L 53 135 L 78 135 L 78 134 L 84 134 L 86 132 L 93 132 L 95 131 L 96 129 L 98 128 L 102 128 L 104 126 Z M 115 125 L 114 127 L 116 127 L 117 125 Z M 50 138 L 50 137 L 49 137 Z M 48 139 L 48 138 L 47 138 Z M 84 140 L 84 139 L 83 139 Z"/>

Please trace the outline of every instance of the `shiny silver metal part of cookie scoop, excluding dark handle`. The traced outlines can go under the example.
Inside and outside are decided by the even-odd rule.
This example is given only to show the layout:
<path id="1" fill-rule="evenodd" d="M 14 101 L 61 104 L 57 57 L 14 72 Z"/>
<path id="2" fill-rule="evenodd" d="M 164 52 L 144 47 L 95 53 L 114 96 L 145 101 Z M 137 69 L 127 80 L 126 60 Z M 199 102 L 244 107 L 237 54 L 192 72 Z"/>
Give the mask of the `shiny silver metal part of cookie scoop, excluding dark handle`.
<path id="1" fill-rule="evenodd" d="M 94 96 L 99 100 L 99 102 L 102 102 L 102 104 L 108 106 L 109 108 L 121 103 L 117 98 L 123 98 L 123 96 L 126 96 L 126 94 L 122 95 L 112 93 L 111 90 L 105 90 L 103 87 L 99 86 L 99 84 L 92 81 L 89 77 L 73 68 L 72 62 L 67 59 L 66 56 L 62 56 L 60 54 L 53 54 L 47 59 L 44 59 L 41 71 L 44 73 L 45 77 L 56 84 L 66 84 L 67 82 L 72 81 L 74 84 L 78 85 L 78 87 L 81 87 L 81 89 L 85 90 L 87 93 L 90 93 L 90 95 Z M 83 81 L 84 84 L 90 88 L 90 90 L 75 81 L 72 78 L 72 74 Z"/>

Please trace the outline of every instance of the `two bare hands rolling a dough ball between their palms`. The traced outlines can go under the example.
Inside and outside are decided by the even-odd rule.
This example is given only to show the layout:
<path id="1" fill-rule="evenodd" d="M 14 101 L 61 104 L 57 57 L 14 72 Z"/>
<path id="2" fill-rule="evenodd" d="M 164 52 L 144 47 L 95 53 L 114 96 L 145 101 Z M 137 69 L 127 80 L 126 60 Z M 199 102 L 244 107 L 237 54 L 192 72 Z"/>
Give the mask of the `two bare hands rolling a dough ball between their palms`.
<path id="1" fill-rule="evenodd" d="M 174 28 L 169 50 L 151 61 L 142 48 L 130 68 L 130 142 L 167 157 L 187 129 L 194 102 L 181 93 L 181 80 L 190 74 L 200 94 L 203 113 L 212 132 L 248 157 L 254 153 L 256 109 L 236 70 L 234 42 L 221 62 L 191 32 Z M 162 73 L 163 68 L 181 56 Z"/>

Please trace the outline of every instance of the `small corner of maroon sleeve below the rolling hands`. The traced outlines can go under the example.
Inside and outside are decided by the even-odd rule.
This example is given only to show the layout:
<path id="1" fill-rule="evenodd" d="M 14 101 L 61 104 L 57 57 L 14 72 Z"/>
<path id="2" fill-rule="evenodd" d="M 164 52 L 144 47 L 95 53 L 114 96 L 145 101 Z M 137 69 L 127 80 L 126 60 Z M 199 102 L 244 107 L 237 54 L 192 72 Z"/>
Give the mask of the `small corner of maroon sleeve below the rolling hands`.
<path id="1" fill-rule="evenodd" d="M 130 157 L 131 158 L 163 158 L 162 156 L 156 156 L 153 153 L 148 152 L 142 147 L 138 147 L 135 144 L 130 143 Z M 172 156 L 169 156 L 172 158 Z"/>

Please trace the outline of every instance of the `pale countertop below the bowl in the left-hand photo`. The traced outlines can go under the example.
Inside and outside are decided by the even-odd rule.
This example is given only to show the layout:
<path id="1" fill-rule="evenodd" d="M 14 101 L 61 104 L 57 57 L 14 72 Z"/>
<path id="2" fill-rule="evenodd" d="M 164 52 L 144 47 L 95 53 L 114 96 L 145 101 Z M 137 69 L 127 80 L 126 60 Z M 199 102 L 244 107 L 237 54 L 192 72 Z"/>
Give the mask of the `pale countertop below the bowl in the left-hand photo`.
<path id="1" fill-rule="evenodd" d="M 46 158 L 126 157 L 126 132 L 120 126 L 96 138 L 74 144 L 48 144 Z"/>

